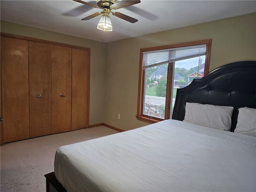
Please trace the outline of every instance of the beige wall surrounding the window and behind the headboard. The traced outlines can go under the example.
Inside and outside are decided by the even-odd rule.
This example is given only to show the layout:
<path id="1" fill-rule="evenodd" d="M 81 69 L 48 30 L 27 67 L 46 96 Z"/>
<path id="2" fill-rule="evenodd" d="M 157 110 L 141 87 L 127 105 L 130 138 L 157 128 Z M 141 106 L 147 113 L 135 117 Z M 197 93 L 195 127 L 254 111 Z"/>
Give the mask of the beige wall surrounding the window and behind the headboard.
<path id="1" fill-rule="evenodd" d="M 140 48 L 204 39 L 212 39 L 210 71 L 231 62 L 256 60 L 256 14 L 107 43 L 104 123 L 122 130 L 147 125 L 135 117 Z"/>

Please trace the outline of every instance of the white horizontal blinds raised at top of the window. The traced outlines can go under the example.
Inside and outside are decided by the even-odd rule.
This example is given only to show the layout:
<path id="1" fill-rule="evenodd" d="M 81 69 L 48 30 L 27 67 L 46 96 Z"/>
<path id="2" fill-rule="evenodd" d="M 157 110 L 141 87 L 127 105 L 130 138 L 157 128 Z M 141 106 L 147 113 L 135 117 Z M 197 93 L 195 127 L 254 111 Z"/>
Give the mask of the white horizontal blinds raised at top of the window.
<path id="1" fill-rule="evenodd" d="M 206 54 L 206 44 L 143 52 L 143 69 Z"/>

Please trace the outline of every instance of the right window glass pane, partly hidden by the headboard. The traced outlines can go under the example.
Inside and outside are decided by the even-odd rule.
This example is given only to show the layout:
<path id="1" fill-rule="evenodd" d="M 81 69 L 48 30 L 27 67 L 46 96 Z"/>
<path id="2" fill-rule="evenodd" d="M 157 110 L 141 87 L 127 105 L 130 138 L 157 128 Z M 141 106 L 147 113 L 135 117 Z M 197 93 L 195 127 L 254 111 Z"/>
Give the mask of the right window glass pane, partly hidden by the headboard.
<path id="1" fill-rule="evenodd" d="M 204 76 L 205 55 L 174 63 L 174 79 L 172 91 L 172 109 L 174 108 L 177 88 L 188 86 L 193 79 Z M 171 113 L 172 114 L 172 113 Z"/>

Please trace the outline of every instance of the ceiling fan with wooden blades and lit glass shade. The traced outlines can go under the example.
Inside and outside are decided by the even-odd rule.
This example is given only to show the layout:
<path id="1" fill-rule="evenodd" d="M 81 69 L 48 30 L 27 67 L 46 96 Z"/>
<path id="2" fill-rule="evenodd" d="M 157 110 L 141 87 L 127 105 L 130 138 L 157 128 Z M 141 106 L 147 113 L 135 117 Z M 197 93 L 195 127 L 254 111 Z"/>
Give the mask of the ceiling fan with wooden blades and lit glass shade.
<path id="1" fill-rule="evenodd" d="M 111 23 L 110 17 L 109 17 L 110 13 L 112 13 L 116 17 L 119 17 L 119 18 L 126 20 L 128 22 L 131 22 L 131 23 L 135 23 L 138 21 L 137 19 L 127 16 L 125 14 L 122 14 L 120 12 L 112 12 L 112 9 L 116 10 L 116 9 L 120 9 L 120 8 L 123 8 L 126 6 L 131 6 L 131 5 L 140 3 L 140 0 L 122 0 L 119 2 L 115 2 L 115 0 L 97 0 L 97 5 L 90 4 L 90 3 L 84 2 L 82 0 L 73 0 L 73 1 L 82 3 L 82 4 L 85 4 L 85 5 L 94 7 L 94 8 L 102 9 L 101 12 L 97 12 L 97 13 L 89 15 L 85 18 L 82 18 L 82 20 L 89 20 L 98 15 L 102 15 L 102 17 L 100 18 L 100 22 L 97 25 L 97 29 L 99 29 L 99 30 L 103 30 L 103 31 L 112 31 L 113 30 L 112 23 Z"/>

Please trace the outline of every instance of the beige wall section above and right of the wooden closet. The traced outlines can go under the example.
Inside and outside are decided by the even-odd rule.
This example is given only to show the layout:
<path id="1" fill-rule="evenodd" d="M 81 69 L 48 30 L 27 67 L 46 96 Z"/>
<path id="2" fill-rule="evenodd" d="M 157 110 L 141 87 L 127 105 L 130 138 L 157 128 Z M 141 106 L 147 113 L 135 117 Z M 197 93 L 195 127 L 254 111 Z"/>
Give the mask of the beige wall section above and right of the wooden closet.
<path id="1" fill-rule="evenodd" d="M 38 28 L 1 21 L 1 32 L 90 48 L 89 124 L 103 122 L 105 44 Z"/>

